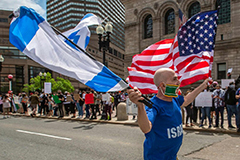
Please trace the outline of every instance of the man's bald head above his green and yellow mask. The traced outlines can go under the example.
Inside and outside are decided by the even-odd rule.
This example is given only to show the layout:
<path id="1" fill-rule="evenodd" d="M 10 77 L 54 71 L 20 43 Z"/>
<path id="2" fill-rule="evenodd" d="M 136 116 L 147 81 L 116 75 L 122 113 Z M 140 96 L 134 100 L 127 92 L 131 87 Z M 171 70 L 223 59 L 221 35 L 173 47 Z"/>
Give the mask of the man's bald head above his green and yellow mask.
<path id="1" fill-rule="evenodd" d="M 154 84 L 158 87 L 160 83 L 166 83 L 168 78 L 171 78 L 175 72 L 170 68 L 160 68 L 154 74 Z"/>

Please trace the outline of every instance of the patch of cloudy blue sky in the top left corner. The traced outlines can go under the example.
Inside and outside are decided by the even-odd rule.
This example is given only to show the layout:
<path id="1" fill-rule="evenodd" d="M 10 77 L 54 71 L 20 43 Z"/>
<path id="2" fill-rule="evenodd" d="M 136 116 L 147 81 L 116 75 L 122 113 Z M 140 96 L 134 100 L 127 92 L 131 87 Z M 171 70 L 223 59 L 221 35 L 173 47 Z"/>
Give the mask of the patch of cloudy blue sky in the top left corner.
<path id="1" fill-rule="evenodd" d="M 33 8 L 37 13 L 46 18 L 46 0 L 0 0 L 1 10 L 17 10 L 20 6 Z"/>

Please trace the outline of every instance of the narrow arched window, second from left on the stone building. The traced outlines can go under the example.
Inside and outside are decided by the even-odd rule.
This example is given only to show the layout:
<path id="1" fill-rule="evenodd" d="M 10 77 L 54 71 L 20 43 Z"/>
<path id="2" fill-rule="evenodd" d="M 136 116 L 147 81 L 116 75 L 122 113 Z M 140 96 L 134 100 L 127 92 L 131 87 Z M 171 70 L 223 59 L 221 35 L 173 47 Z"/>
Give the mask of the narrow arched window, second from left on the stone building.
<path id="1" fill-rule="evenodd" d="M 165 34 L 175 32 L 175 14 L 173 9 L 169 9 L 165 15 Z"/>

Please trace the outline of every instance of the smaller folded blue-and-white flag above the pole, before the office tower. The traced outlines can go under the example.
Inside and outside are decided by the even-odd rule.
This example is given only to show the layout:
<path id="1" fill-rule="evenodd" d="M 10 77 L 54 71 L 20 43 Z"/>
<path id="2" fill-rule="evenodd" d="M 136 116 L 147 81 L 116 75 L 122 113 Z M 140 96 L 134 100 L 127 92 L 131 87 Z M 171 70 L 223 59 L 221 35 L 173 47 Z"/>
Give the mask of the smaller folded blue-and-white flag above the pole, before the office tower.
<path id="1" fill-rule="evenodd" d="M 91 33 L 88 29 L 88 26 L 91 25 L 100 25 L 101 19 L 94 15 L 93 13 L 86 14 L 81 21 L 78 23 L 78 25 L 63 33 L 68 39 L 72 40 L 75 44 L 77 44 L 80 48 L 83 50 L 86 49 Z M 61 35 L 59 35 L 60 38 L 62 38 Z M 72 43 L 70 43 L 68 40 L 64 40 L 67 44 L 72 46 L 74 49 L 78 50 Z"/>

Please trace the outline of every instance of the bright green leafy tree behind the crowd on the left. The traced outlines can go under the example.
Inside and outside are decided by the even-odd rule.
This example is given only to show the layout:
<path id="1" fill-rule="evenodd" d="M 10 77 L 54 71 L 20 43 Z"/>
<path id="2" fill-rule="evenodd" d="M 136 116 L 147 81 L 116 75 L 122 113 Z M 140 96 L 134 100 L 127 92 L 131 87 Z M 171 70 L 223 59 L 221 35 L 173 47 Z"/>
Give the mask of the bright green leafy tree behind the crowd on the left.
<path id="1" fill-rule="evenodd" d="M 46 78 L 45 82 L 51 82 L 52 92 L 57 92 L 58 90 L 61 90 L 62 92 L 64 92 L 64 91 L 73 92 L 74 91 L 74 87 L 69 80 L 57 77 L 57 81 L 55 81 L 52 78 L 51 73 L 49 73 L 49 72 L 47 73 L 45 78 Z M 43 84 L 41 81 L 41 77 L 37 76 L 37 77 L 30 79 L 30 85 L 24 84 L 23 91 L 24 92 L 33 92 L 33 91 L 41 90 L 42 87 L 43 87 Z"/>

